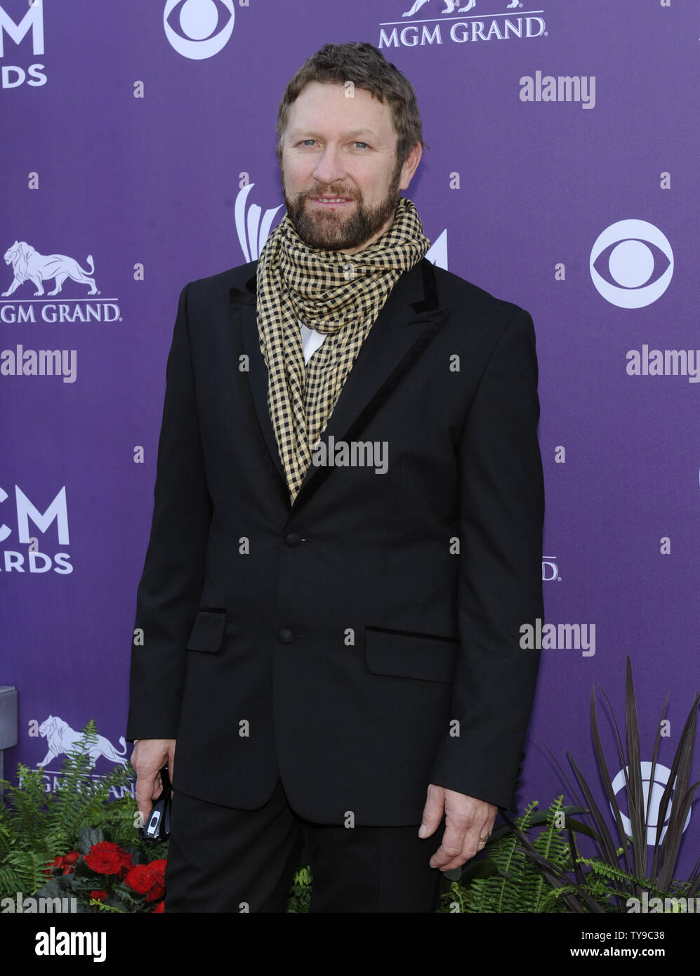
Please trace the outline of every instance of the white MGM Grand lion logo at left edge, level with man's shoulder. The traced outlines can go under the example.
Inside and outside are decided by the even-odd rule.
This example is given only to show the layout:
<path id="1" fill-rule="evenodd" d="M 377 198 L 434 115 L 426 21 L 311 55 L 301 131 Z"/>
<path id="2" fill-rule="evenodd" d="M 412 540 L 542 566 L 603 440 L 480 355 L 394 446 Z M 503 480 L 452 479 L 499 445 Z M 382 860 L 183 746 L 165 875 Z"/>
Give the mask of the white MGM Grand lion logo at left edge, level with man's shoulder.
<path id="1" fill-rule="evenodd" d="M 82 267 L 74 258 L 63 254 L 39 254 L 25 241 L 15 241 L 5 252 L 5 264 L 12 267 L 13 280 L 2 293 L 3 299 L 14 295 L 27 283 L 34 286 L 32 299 L 21 298 L 21 304 L 0 303 L 0 321 L 14 322 L 117 322 L 121 320 L 119 305 L 115 301 L 91 302 L 89 299 L 65 298 L 62 295 L 63 283 L 70 279 L 77 285 L 88 288 L 88 296 L 100 295 L 95 282 L 95 263 L 88 255 L 87 267 Z M 44 290 L 44 282 L 53 281 L 51 291 Z M 61 295 L 61 302 L 50 302 L 50 298 Z"/>

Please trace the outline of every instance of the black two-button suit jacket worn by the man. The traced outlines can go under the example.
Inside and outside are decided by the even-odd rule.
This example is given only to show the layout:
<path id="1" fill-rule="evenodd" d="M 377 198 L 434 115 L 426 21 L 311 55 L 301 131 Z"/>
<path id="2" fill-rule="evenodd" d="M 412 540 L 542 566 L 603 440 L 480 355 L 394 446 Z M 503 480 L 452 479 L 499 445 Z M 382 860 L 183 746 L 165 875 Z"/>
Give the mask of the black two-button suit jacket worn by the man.
<path id="1" fill-rule="evenodd" d="M 255 267 L 181 295 L 128 737 L 177 738 L 176 788 L 242 809 L 279 776 L 319 823 L 420 823 L 429 783 L 513 807 L 543 616 L 530 316 L 402 274 L 321 438 L 388 468 L 312 465 L 290 506 Z"/>

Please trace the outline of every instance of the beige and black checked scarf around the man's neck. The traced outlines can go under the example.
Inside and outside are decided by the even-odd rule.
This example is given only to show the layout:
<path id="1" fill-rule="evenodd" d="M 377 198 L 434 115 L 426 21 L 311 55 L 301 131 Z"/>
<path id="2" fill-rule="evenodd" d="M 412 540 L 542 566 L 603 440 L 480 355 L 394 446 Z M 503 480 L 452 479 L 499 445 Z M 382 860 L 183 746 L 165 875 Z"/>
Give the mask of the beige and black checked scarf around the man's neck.
<path id="1" fill-rule="evenodd" d="M 268 237 L 257 270 L 258 334 L 292 503 L 362 343 L 400 274 L 430 245 L 405 197 L 390 229 L 357 254 L 309 247 L 287 214 Z M 329 334 L 308 364 L 300 321 Z"/>

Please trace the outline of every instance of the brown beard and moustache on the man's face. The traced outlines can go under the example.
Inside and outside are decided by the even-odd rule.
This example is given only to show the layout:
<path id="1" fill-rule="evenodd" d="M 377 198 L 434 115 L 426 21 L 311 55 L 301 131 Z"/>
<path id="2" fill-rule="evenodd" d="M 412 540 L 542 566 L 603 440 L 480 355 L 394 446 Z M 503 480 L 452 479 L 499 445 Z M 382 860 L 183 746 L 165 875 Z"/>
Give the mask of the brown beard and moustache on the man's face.
<path id="1" fill-rule="evenodd" d="M 293 199 L 289 199 L 282 177 L 287 215 L 299 236 L 309 247 L 321 251 L 349 251 L 359 248 L 392 220 L 400 199 L 398 189 L 400 177 L 401 167 L 396 165 L 387 195 L 376 207 L 366 207 L 359 190 L 339 187 L 338 184 L 316 183 L 310 190 L 297 193 Z M 331 195 L 350 197 L 356 202 L 350 217 L 341 218 L 333 211 L 324 213 L 322 210 L 316 210 L 309 213 L 307 200 L 310 197 Z"/>

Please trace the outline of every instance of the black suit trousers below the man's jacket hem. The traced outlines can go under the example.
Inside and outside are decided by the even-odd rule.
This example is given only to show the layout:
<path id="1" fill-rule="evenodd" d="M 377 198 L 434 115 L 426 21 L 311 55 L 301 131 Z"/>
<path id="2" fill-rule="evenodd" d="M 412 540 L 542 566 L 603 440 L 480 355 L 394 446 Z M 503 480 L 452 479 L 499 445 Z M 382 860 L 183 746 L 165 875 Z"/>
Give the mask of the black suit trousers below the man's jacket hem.
<path id="1" fill-rule="evenodd" d="M 442 874 L 429 861 L 444 827 L 313 824 L 292 810 L 281 780 L 258 810 L 175 793 L 165 875 L 166 913 L 286 912 L 302 852 L 310 912 L 434 913 Z"/>

